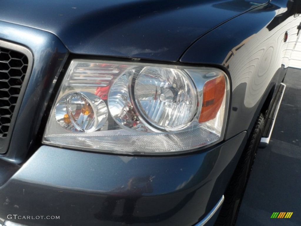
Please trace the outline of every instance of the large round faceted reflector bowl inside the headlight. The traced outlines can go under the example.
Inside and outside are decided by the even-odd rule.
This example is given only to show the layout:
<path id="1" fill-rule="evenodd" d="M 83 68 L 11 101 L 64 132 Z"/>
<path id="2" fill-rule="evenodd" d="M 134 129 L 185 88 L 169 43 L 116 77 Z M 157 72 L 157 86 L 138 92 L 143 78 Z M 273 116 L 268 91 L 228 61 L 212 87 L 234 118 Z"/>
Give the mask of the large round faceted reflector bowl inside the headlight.
<path id="1" fill-rule="evenodd" d="M 184 71 L 144 67 L 135 78 L 134 96 L 139 112 L 152 126 L 177 130 L 191 123 L 197 94 Z"/>

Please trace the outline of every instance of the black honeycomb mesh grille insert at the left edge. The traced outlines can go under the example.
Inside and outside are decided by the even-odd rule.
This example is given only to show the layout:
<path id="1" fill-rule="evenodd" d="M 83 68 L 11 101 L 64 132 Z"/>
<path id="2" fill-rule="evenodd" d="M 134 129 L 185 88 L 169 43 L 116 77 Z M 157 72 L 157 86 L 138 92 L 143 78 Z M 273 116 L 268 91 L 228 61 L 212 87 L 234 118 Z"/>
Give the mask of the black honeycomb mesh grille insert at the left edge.
<path id="1" fill-rule="evenodd" d="M 7 137 L 27 67 L 23 53 L 0 47 L 0 137 Z"/>

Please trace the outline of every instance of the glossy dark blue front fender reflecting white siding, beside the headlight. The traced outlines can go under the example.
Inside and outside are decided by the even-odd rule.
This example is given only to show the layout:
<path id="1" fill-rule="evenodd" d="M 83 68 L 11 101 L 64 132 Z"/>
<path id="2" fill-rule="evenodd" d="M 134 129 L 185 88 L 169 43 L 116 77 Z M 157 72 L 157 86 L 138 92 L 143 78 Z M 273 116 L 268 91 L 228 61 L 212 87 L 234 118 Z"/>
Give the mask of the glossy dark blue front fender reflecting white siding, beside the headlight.
<path id="1" fill-rule="evenodd" d="M 250 134 L 265 100 L 284 78 L 291 53 L 284 34 L 300 23 L 294 9 L 281 8 L 285 5 L 286 1 L 272 1 L 229 20 L 198 39 L 180 59 L 222 65 L 230 74 L 232 99 L 225 139 L 244 130 Z M 291 42 L 296 38 L 294 33 L 289 36 Z"/>

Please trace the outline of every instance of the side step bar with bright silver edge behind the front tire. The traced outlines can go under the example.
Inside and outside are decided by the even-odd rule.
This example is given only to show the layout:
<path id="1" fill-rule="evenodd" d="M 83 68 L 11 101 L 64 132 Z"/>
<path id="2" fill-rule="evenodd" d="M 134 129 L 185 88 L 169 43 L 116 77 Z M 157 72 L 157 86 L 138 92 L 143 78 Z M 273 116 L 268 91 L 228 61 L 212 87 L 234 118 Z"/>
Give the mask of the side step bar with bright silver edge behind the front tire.
<path id="1" fill-rule="evenodd" d="M 265 118 L 266 123 L 265 123 L 265 127 L 263 130 L 262 138 L 260 140 L 260 145 L 259 145 L 261 148 L 265 148 L 266 146 L 268 146 L 268 143 L 270 142 L 285 87 L 286 87 L 286 85 L 284 83 L 280 83 L 280 87 L 278 89 L 278 92 L 277 92 L 274 102 L 272 104 L 272 108 L 269 109 L 269 111 L 267 113 L 267 117 Z"/>

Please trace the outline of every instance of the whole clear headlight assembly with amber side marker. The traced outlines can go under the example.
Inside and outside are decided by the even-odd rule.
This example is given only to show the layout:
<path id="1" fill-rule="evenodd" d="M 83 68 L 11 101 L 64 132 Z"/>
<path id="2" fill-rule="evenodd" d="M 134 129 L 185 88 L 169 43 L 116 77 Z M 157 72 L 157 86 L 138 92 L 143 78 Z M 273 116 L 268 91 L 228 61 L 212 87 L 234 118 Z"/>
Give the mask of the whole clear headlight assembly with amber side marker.
<path id="1" fill-rule="evenodd" d="M 229 82 L 216 68 L 72 61 L 43 143 L 121 153 L 186 151 L 222 139 Z"/>

